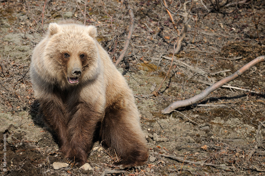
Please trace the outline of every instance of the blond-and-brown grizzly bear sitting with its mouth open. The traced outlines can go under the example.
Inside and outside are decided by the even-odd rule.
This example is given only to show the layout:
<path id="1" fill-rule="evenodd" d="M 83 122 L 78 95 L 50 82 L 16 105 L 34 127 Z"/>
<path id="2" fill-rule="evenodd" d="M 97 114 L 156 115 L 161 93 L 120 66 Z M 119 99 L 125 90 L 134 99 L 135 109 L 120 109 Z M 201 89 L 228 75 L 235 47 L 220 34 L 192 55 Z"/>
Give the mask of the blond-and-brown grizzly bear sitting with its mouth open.
<path id="1" fill-rule="evenodd" d="M 114 167 L 148 159 L 132 90 L 97 42 L 95 26 L 50 23 L 33 50 L 30 76 L 43 120 L 67 161 L 83 165 L 96 136 L 121 158 Z"/>

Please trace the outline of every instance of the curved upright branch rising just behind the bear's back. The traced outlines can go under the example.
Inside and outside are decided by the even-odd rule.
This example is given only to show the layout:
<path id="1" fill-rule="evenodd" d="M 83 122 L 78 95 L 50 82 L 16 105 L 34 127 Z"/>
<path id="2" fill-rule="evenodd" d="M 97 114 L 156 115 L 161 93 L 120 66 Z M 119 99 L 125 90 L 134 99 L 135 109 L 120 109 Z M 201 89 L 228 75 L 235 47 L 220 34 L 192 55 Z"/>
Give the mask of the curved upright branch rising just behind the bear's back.
<path id="1" fill-rule="evenodd" d="M 128 9 L 129 15 L 130 15 L 130 26 L 129 26 L 129 32 L 127 34 L 127 39 L 126 39 L 125 44 L 124 44 L 124 48 L 123 48 L 119 58 L 115 62 L 115 66 L 116 67 L 120 64 L 120 62 L 122 62 L 123 57 L 125 56 L 125 54 L 127 52 L 127 49 L 129 47 L 129 44 L 130 44 L 130 40 L 132 38 L 132 31 L 133 31 L 133 28 L 134 28 L 134 15 L 133 15 L 132 9 L 130 7 L 130 4 L 129 4 L 128 0 L 125 0 L 124 3 L 126 4 L 126 7 Z"/>

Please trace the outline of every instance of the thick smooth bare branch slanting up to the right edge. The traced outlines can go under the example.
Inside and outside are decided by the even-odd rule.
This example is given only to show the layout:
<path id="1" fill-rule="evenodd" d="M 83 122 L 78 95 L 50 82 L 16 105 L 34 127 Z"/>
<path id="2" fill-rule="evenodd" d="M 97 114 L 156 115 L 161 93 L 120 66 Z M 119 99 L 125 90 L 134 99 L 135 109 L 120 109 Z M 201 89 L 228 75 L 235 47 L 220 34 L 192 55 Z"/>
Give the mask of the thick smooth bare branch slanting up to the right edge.
<path id="1" fill-rule="evenodd" d="M 194 103 L 206 98 L 207 95 L 210 94 L 211 92 L 213 92 L 214 90 L 216 90 L 216 89 L 222 87 L 224 84 L 227 84 L 228 82 L 233 81 L 234 79 L 238 78 L 244 72 L 246 72 L 248 69 L 250 69 L 251 67 L 253 67 L 257 63 L 262 62 L 262 61 L 265 61 L 265 56 L 257 57 L 256 59 L 252 60 L 248 64 L 246 64 L 243 67 L 241 67 L 234 74 L 232 74 L 232 75 L 222 79 L 221 81 L 218 81 L 215 84 L 207 87 L 200 94 L 198 94 L 198 95 L 196 95 L 196 96 L 194 96 L 194 97 L 192 97 L 190 99 L 176 101 L 176 102 L 171 103 L 168 107 L 163 109 L 161 112 L 163 114 L 168 114 L 168 113 L 172 112 L 174 109 L 177 109 L 177 108 L 180 108 L 180 107 L 189 106 L 191 104 L 194 104 Z"/>

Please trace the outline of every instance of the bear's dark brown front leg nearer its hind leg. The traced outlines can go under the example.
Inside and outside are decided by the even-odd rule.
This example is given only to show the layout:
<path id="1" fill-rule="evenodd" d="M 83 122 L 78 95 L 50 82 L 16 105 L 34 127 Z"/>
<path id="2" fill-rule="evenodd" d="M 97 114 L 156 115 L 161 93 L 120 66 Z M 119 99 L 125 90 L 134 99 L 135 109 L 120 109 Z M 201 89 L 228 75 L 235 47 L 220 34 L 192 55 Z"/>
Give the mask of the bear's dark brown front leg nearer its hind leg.
<path id="1" fill-rule="evenodd" d="M 91 150 L 95 129 L 103 118 L 104 113 L 96 110 L 92 105 L 81 103 L 69 121 L 69 144 L 66 158 L 69 163 L 85 164 L 87 154 Z"/>

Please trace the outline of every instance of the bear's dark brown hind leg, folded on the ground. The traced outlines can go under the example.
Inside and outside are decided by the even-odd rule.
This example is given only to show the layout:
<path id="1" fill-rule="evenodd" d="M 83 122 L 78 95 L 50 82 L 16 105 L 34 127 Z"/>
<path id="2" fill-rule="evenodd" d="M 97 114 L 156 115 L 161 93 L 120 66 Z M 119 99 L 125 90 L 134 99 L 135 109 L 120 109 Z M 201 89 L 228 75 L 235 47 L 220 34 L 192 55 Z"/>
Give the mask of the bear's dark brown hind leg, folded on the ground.
<path id="1" fill-rule="evenodd" d="M 135 114 L 129 109 L 110 110 L 101 125 L 100 136 L 104 144 L 121 157 L 121 161 L 113 163 L 114 167 L 120 169 L 143 165 L 148 159 L 148 149 L 142 131 L 137 128 L 138 124 L 130 124 L 125 118 L 135 118 L 130 117 L 131 115 Z"/>

